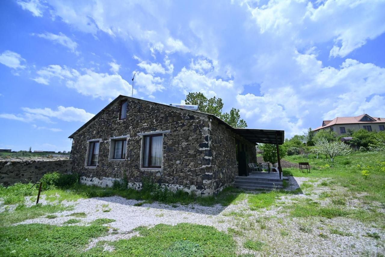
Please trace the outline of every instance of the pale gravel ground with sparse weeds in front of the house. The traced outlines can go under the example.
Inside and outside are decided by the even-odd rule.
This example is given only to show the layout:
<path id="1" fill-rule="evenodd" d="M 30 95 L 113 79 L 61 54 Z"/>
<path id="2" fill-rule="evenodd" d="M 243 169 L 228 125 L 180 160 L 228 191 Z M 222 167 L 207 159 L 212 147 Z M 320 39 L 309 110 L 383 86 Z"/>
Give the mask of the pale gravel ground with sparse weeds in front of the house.
<path id="1" fill-rule="evenodd" d="M 304 182 L 313 186 L 303 187 L 303 192 L 298 194 L 284 195 L 276 201 L 276 205 L 255 211 L 250 210 L 247 198 L 228 207 L 221 205 L 204 207 L 196 204 L 172 206 L 157 202 L 134 206 L 142 201 L 114 196 L 80 199 L 76 202 L 63 201 L 64 205 L 74 205 L 74 209 L 55 213 L 58 217 L 54 219 L 40 217 L 25 220 L 19 224 L 46 223 L 60 226 L 70 218 L 74 218 L 66 215 L 77 212 L 84 212 L 87 216 L 78 218 L 81 222 L 74 225 L 89 225 L 98 218 L 114 219 L 114 222 L 106 224 L 110 228 L 109 234 L 91 240 L 87 249 L 94 247 L 99 241 L 114 241 L 137 236 L 133 229 L 139 226 L 151 227 L 159 223 L 176 225 L 188 222 L 214 226 L 226 233 L 228 233 L 228 228 L 239 231 L 234 234 L 238 245 L 237 254 L 256 256 L 376 256 L 385 254 L 384 230 L 372 223 L 363 223 L 344 217 L 328 219 L 290 216 L 290 205 L 296 204 L 298 201 L 311 199 L 320 203 L 321 206 L 325 206 L 331 203 L 331 198 L 320 198 L 322 193 L 346 191 L 345 188 L 336 185 L 321 186 L 320 183 L 324 180 L 310 179 L 309 181 L 308 178 L 289 177 L 289 186 L 286 188 L 288 191 L 296 190 Z M 370 205 L 362 203 L 360 200 L 347 199 L 346 208 L 370 208 Z M 42 197 L 41 203 L 47 204 L 48 202 Z M 376 203 L 373 204 L 376 205 Z M 377 208 L 378 211 L 384 211 L 380 205 Z M 242 215 L 232 215 L 231 213 Z M 337 229 L 344 235 L 331 233 L 331 229 Z M 378 233 L 380 239 L 368 237 L 368 233 Z M 259 252 L 245 249 L 243 243 L 247 239 L 263 242 L 263 249 Z M 104 248 L 105 251 L 114 250 L 108 244 L 104 245 Z"/>

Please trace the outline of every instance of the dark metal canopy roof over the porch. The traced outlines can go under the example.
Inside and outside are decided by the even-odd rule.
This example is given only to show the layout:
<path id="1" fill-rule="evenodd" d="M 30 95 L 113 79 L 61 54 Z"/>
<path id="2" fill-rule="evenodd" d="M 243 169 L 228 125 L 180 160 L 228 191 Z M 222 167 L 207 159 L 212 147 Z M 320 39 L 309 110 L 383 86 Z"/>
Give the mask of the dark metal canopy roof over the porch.
<path id="1" fill-rule="evenodd" d="M 283 144 L 285 131 L 274 129 L 233 128 L 235 133 L 253 143 Z"/>

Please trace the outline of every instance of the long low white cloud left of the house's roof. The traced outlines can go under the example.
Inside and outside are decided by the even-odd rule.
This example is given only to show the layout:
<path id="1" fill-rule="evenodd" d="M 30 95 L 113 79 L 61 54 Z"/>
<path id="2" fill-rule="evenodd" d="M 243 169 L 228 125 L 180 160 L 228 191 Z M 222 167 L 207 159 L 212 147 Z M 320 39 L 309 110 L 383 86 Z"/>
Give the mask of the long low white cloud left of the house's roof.
<path id="1" fill-rule="evenodd" d="M 62 121 L 81 121 L 86 122 L 95 114 L 87 113 L 84 109 L 79 109 L 75 107 L 64 107 L 58 106 L 57 110 L 52 110 L 50 108 L 27 108 L 23 107 L 22 114 L 9 114 L 3 113 L 0 114 L 0 118 L 3 119 L 13 119 L 23 122 L 33 122 L 33 121 L 44 121 L 46 123 L 53 123 L 50 118 L 57 118 Z"/>

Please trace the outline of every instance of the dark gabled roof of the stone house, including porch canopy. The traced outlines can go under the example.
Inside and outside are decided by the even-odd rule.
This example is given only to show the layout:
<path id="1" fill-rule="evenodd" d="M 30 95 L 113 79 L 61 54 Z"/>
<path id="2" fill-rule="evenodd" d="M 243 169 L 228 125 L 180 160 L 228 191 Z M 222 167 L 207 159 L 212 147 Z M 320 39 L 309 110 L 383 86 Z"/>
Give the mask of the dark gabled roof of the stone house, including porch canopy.
<path id="1" fill-rule="evenodd" d="M 70 135 L 69 138 L 74 138 L 74 136 L 77 133 L 79 133 L 84 128 L 86 128 L 90 123 L 92 123 L 102 113 L 104 113 L 105 110 L 110 108 L 110 106 L 112 106 L 116 101 L 118 101 L 119 99 L 121 99 L 123 97 L 124 98 L 135 99 L 136 101 L 143 101 L 143 102 L 148 102 L 148 103 L 151 103 L 151 104 L 167 106 L 169 108 L 176 108 L 179 111 L 181 109 L 179 107 L 170 106 L 170 105 L 167 105 L 167 104 L 160 104 L 160 103 L 157 103 L 157 102 L 151 102 L 151 101 L 142 100 L 142 99 L 138 99 L 138 98 L 134 98 L 134 97 L 119 95 L 112 102 L 107 104 L 107 106 L 105 106 L 99 113 L 97 113 L 94 117 L 92 117 L 89 121 L 87 121 L 83 126 L 81 126 L 79 129 L 77 129 L 77 131 L 75 131 L 72 135 Z M 278 143 L 278 144 L 283 144 L 283 142 L 285 141 L 285 131 L 283 131 L 283 130 L 233 128 L 232 126 L 230 126 L 229 124 L 227 124 L 226 122 L 224 122 L 223 120 L 219 119 L 218 117 L 216 117 L 213 114 L 203 113 L 203 112 L 200 112 L 200 111 L 187 110 L 187 109 L 183 109 L 183 111 L 199 113 L 199 114 L 202 114 L 202 115 L 209 116 L 210 118 L 216 119 L 219 124 L 223 124 L 224 126 L 226 126 L 226 128 L 230 129 L 234 133 L 244 137 L 245 139 L 247 139 L 248 141 L 253 142 L 253 143 L 266 143 L 266 144 L 276 144 L 276 143 Z"/>

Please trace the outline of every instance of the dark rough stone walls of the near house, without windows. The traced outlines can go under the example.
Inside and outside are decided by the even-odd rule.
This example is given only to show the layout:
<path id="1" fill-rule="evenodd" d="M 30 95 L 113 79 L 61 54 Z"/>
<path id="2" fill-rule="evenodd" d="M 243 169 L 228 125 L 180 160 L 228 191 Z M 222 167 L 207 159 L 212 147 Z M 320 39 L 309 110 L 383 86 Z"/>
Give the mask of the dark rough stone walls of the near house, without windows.
<path id="1" fill-rule="evenodd" d="M 219 187 L 234 181 L 236 166 L 228 164 L 231 163 L 228 156 L 235 158 L 234 135 L 230 131 L 216 127 L 223 130 L 216 132 L 216 140 L 225 142 L 217 144 L 217 161 L 211 149 L 210 133 L 213 129 L 209 116 L 131 97 L 127 101 L 126 119 L 119 120 L 121 101 L 117 101 L 75 134 L 71 151 L 72 170 L 80 174 L 82 183 L 109 186 L 126 173 L 129 186 L 133 188 L 140 189 L 142 179 L 147 178 L 171 190 L 211 195 Z M 161 168 L 142 168 L 142 138 L 147 133 L 163 134 Z M 121 136 L 127 136 L 126 159 L 109 160 L 110 148 L 113 147 L 111 138 Z M 98 163 L 96 167 L 87 167 L 87 146 L 92 139 L 100 141 Z M 229 171 L 222 175 L 223 170 Z"/>

